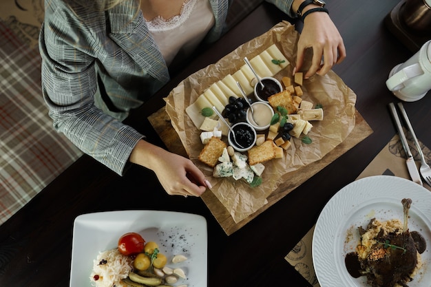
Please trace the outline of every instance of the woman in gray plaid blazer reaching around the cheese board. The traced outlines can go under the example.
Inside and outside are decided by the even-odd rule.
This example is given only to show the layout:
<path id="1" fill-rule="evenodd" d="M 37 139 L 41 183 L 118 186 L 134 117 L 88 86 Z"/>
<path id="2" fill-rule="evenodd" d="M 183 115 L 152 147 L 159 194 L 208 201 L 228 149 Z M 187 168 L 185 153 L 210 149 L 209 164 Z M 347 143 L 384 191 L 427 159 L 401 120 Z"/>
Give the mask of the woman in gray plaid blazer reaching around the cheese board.
<path id="1" fill-rule="evenodd" d="M 296 17 L 303 0 L 269 2 Z M 210 186 L 191 160 L 151 145 L 121 120 L 169 81 L 169 65 L 220 37 L 230 3 L 45 0 L 39 46 L 54 128 L 118 174 L 129 162 L 140 164 L 156 173 L 168 194 L 200 196 Z M 302 15 L 317 7 L 309 3 Z M 304 19 L 298 69 L 306 47 L 314 51 L 306 77 L 325 74 L 346 54 L 337 28 L 318 10 Z"/>

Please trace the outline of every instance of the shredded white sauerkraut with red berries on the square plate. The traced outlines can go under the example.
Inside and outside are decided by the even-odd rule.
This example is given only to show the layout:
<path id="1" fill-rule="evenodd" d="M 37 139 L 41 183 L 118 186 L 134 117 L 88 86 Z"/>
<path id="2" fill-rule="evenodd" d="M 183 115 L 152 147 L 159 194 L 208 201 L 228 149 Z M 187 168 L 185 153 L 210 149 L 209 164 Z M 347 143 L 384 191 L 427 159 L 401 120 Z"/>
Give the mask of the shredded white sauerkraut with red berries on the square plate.
<path id="1" fill-rule="evenodd" d="M 100 252 L 94 259 L 90 280 L 96 287 L 127 287 L 121 279 L 127 278 L 131 271 L 132 259 L 115 248 Z"/>

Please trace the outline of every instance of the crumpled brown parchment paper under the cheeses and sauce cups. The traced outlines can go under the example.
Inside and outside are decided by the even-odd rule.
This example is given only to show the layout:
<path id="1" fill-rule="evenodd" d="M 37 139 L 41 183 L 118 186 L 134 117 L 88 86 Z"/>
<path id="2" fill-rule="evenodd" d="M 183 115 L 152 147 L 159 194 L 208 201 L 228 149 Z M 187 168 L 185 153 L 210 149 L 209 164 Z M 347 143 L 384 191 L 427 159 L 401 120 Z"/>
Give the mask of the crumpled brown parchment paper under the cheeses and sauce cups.
<path id="1" fill-rule="evenodd" d="M 298 37 L 299 34 L 293 25 L 281 22 L 261 36 L 240 45 L 217 63 L 191 74 L 165 98 L 167 114 L 189 158 L 207 176 L 213 186 L 211 192 L 222 202 L 235 222 L 240 222 L 266 204 L 266 198 L 280 184 L 289 180 L 289 173 L 322 159 L 326 153 L 346 139 L 355 127 L 356 95 L 333 71 L 328 72 L 326 76 L 316 75 L 304 80 L 302 98 L 314 104 L 321 104 L 324 109 L 324 120 L 311 122 L 313 128 L 308 133 L 313 140 L 311 145 L 292 138 L 292 145 L 284 152 L 283 158 L 264 162 L 262 184 L 254 188 L 244 180 L 212 177 L 213 169 L 198 160 L 203 148 L 199 138 L 201 131 L 193 124 L 185 109 L 212 83 L 239 70 L 244 65 L 244 56 L 252 59 L 273 43 L 291 63 L 275 75 L 275 78 L 281 80 L 283 76 L 292 77 Z M 223 139 L 227 141 L 227 138 Z"/>

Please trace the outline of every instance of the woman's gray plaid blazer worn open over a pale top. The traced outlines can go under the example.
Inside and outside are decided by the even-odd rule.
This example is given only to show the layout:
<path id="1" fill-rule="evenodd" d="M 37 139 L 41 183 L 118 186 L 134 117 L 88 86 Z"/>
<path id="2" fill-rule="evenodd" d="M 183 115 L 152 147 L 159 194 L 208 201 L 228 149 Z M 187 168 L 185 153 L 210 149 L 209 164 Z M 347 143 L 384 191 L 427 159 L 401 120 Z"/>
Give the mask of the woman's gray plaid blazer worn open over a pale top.
<path id="1" fill-rule="evenodd" d="M 205 41 L 212 42 L 222 34 L 231 0 L 209 1 L 215 24 Z M 292 1 L 270 2 L 290 12 Z M 136 1 L 99 12 L 45 0 L 39 50 L 43 97 L 54 128 L 123 174 L 143 135 L 121 120 L 169 81 Z"/>

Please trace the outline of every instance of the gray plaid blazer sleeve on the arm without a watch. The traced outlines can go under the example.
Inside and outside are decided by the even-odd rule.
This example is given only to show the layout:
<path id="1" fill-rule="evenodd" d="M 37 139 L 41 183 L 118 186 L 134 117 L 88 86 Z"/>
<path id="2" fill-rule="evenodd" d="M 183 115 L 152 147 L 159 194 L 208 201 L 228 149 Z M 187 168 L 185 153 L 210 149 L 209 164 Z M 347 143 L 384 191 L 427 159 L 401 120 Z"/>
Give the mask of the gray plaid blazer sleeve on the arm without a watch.
<path id="1" fill-rule="evenodd" d="M 51 16 L 45 15 L 39 50 L 43 97 L 54 128 L 84 153 L 122 175 L 143 135 L 94 105 L 96 59 L 77 48 L 91 46 L 91 36 L 78 20 L 66 25 L 61 13 L 53 11 Z"/>

